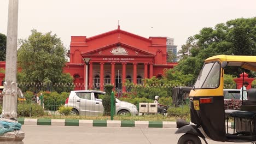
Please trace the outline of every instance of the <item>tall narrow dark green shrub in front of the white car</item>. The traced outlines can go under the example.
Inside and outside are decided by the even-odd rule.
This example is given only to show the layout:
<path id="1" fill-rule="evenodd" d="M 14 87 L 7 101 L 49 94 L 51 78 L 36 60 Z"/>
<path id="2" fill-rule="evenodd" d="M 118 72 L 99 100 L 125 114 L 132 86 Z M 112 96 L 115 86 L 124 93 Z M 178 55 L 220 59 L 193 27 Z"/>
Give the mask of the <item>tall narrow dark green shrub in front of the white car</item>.
<path id="1" fill-rule="evenodd" d="M 102 99 L 102 105 L 104 106 L 104 116 L 110 115 L 110 109 L 111 109 L 111 92 L 113 89 L 113 85 L 105 85 L 105 91 L 106 95 Z"/>

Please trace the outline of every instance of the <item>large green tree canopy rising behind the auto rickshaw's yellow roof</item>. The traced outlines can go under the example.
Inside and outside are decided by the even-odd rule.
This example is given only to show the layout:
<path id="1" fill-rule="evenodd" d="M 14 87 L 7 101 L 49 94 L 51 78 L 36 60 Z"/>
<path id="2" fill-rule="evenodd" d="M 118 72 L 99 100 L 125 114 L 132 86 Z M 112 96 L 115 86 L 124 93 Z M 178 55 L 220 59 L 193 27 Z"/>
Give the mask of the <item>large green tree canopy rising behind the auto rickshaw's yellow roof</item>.
<path id="1" fill-rule="evenodd" d="M 256 17 L 219 23 L 214 28 L 202 28 L 199 34 L 188 38 L 178 52 L 181 55 L 175 68 L 183 74 L 199 74 L 203 61 L 215 55 L 256 55 Z M 249 71 L 247 71 L 248 73 Z M 240 68 L 230 68 L 226 74 L 238 76 Z M 249 73 L 255 76 L 254 73 Z"/>

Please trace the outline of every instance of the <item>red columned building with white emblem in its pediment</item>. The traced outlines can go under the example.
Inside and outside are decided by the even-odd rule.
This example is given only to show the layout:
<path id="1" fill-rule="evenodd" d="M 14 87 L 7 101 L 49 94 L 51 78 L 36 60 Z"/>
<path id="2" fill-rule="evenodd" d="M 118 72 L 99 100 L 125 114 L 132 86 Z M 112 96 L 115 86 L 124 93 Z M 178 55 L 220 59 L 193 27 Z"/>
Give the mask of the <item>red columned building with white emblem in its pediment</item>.
<path id="1" fill-rule="evenodd" d="M 88 89 L 111 84 L 126 91 L 126 80 L 142 84 L 142 79 L 162 77 L 165 69 L 177 63 L 167 63 L 166 37 L 144 38 L 120 29 L 95 35 L 71 36 L 70 61 L 63 68 L 64 73 L 74 77 L 74 84 L 85 83 L 88 71 Z M 88 69 L 83 59 L 90 59 Z M 80 85 L 80 84 L 79 84 Z M 84 89 L 75 87 L 75 90 Z"/>

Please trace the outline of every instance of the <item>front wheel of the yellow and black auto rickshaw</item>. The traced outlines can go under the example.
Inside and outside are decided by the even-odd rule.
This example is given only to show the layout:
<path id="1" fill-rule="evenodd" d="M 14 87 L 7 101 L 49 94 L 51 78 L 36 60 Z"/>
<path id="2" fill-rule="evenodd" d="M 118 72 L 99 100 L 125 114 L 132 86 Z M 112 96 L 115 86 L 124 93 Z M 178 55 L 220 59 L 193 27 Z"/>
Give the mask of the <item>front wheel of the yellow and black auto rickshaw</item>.
<path id="1" fill-rule="evenodd" d="M 202 142 L 196 135 L 184 134 L 179 138 L 178 144 L 202 144 Z"/>

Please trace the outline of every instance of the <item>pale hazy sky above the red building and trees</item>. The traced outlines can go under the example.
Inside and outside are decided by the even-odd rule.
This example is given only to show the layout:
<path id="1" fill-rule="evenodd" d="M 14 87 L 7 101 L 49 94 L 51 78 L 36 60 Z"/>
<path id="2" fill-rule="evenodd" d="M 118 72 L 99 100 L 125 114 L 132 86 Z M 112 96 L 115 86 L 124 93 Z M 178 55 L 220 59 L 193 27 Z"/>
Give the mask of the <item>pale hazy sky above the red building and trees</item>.
<path id="1" fill-rule="evenodd" d="M 0 33 L 7 34 L 8 0 L 0 0 Z M 142 37 L 171 37 L 181 47 L 203 27 L 256 16 L 256 0 L 20 0 L 18 38 L 52 31 L 66 47 L 71 35 L 92 37 L 120 28 Z M 153 27 L 153 28 L 152 28 Z"/>

